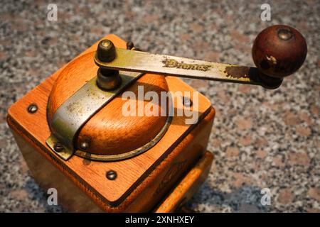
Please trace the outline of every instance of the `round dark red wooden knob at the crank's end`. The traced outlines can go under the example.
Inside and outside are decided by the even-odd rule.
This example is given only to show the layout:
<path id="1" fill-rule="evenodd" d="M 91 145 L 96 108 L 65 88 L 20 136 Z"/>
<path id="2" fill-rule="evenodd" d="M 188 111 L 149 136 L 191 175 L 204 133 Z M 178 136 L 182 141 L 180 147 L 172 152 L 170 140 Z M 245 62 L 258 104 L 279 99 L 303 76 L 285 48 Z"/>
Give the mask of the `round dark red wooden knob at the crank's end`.
<path id="1" fill-rule="evenodd" d="M 270 77 L 287 77 L 306 59 L 306 40 L 296 29 L 278 25 L 265 28 L 252 47 L 258 70 Z"/>

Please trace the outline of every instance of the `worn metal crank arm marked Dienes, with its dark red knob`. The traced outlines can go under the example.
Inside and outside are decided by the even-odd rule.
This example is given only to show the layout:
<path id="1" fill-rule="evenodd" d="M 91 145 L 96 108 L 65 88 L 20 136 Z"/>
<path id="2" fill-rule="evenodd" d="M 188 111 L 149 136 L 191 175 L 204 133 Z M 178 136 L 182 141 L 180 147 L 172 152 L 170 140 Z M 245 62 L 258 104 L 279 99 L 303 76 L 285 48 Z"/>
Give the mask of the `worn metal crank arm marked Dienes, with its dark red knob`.
<path id="1" fill-rule="evenodd" d="M 125 50 L 115 48 L 110 40 L 100 41 L 95 64 L 100 67 L 100 72 L 105 72 L 106 77 L 114 70 L 122 70 L 276 89 L 282 84 L 283 77 L 302 66 L 306 50 L 306 41 L 299 31 L 289 26 L 271 26 L 259 33 L 253 44 L 252 58 L 257 67 Z"/>

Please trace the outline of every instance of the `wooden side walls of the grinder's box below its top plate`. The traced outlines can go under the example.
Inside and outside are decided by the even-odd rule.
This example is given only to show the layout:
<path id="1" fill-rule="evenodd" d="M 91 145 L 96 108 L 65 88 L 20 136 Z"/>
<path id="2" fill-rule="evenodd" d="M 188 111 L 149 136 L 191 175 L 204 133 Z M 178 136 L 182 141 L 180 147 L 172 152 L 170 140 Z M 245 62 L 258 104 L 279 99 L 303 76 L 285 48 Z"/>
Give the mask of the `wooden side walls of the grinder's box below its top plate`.
<path id="1" fill-rule="evenodd" d="M 157 206 L 156 212 L 161 211 L 171 212 L 174 211 L 179 206 L 183 205 L 187 199 L 190 198 L 191 193 L 193 193 L 199 185 L 200 182 L 203 181 L 204 178 L 208 175 L 207 169 L 210 169 L 210 160 L 212 160 L 212 155 L 208 154 L 208 152 L 203 155 L 203 145 L 206 144 L 208 140 L 208 135 L 210 133 L 210 128 L 212 126 L 212 119 L 214 116 L 214 111 L 211 109 L 210 113 L 203 119 L 203 121 L 195 128 L 193 131 L 184 138 L 181 143 L 166 157 L 160 165 L 153 170 L 144 181 L 142 181 L 134 191 L 127 196 L 126 199 L 117 207 L 110 206 L 109 204 L 103 204 L 103 201 L 97 198 L 94 192 L 90 192 L 84 187 L 82 184 L 79 184 L 77 179 L 74 179 L 73 176 L 69 176 L 68 172 L 60 172 L 53 165 L 52 162 L 46 160 L 43 155 L 39 154 L 36 149 L 38 147 L 34 147 L 34 143 L 29 140 L 23 133 L 14 129 L 14 135 L 16 138 L 16 142 L 21 149 L 23 157 L 25 158 L 29 169 L 33 177 L 36 178 L 36 181 L 43 187 L 43 189 L 47 190 L 50 187 L 54 187 L 58 190 L 58 203 L 63 205 L 68 211 L 71 212 L 99 212 L 99 211 L 107 211 L 107 212 L 146 212 L 151 211 L 154 206 L 160 202 L 160 206 Z M 11 126 L 14 126 L 10 123 Z M 195 150 L 193 150 L 195 149 Z M 201 152 L 202 151 L 202 152 Z M 189 154 L 189 155 L 188 155 Z M 190 154 L 193 154 L 190 156 Z M 195 156 L 196 154 L 196 156 Z M 198 160 L 198 155 L 203 155 L 201 160 Z M 193 158 L 193 159 L 191 159 Z M 187 165 L 193 165 L 193 162 L 197 162 L 195 167 L 192 167 L 191 170 L 188 171 L 186 176 L 189 176 L 190 172 L 194 172 L 196 170 L 196 177 L 183 177 L 183 180 L 176 184 L 176 179 L 180 178 L 180 175 L 174 175 L 171 172 L 171 167 L 175 166 L 176 163 L 181 163 L 184 160 L 188 159 L 191 163 L 185 163 L 183 165 L 183 172 L 188 170 Z M 198 175 L 199 162 L 208 165 L 201 172 L 201 175 Z M 203 164 L 201 164 L 201 168 Z M 196 168 L 196 169 L 195 169 Z M 171 176 L 171 179 L 164 176 Z M 65 177 L 63 174 L 67 175 Z M 50 176 L 50 177 L 48 177 Z M 70 181 L 70 179 L 75 183 Z M 195 182 L 196 181 L 196 182 Z M 166 187 L 159 187 L 166 183 Z M 183 190 L 188 189 L 186 186 L 191 186 L 191 192 L 187 192 L 185 196 L 178 193 L 176 189 L 173 192 L 170 192 L 172 187 L 180 189 L 181 186 Z M 80 190 L 82 189 L 82 190 Z M 157 190 L 161 189 L 161 190 Z M 82 191 L 82 192 L 81 192 Z M 158 192 L 159 191 L 159 192 Z M 83 193 L 86 192 L 86 193 Z M 167 192 L 170 192 L 169 196 L 161 201 L 163 196 L 166 195 Z M 176 198 L 170 199 L 170 204 L 167 203 L 168 198 Z M 96 204 L 92 204 L 92 201 L 95 201 Z M 99 208 L 100 207 L 100 208 Z M 102 210 L 100 210 L 102 209 Z"/>

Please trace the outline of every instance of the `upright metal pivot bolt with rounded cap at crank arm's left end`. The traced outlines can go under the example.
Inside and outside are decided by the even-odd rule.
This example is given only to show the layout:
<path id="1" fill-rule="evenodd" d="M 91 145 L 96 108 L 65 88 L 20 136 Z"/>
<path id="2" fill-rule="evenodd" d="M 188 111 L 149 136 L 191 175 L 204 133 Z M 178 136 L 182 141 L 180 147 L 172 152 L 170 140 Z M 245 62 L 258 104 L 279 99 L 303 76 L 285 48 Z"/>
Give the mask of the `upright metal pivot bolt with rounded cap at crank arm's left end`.
<path id="1" fill-rule="evenodd" d="M 115 57 L 116 50 L 114 44 L 110 40 L 101 40 L 97 47 L 97 60 L 100 62 L 112 62 Z M 100 67 L 97 71 L 97 86 L 100 89 L 112 90 L 119 87 L 120 84 L 121 77 L 118 70 L 107 70 Z"/>

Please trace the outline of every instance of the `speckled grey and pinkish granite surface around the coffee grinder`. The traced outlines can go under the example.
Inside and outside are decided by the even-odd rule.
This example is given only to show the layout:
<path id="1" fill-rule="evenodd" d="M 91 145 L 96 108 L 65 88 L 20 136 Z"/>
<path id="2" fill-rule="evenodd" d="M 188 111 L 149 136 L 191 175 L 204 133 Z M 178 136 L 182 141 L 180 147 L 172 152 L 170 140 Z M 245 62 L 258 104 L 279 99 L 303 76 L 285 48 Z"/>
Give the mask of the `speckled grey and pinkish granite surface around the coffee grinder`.
<path id="1" fill-rule="evenodd" d="M 272 21 L 260 20 L 260 5 Z M 58 21 L 46 6 L 58 5 Z M 306 62 L 282 87 L 185 79 L 217 111 L 206 184 L 188 204 L 196 211 L 320 211 L 320 1 L 1 1 L 0 211 L 53 212 L 6 125 L 8 107 L 96 40 L 114 33 L 149 52 L 252 65 L 263 28 L 301 31 Z M 271 190 L 271 205 L 260 190 Z"/>

